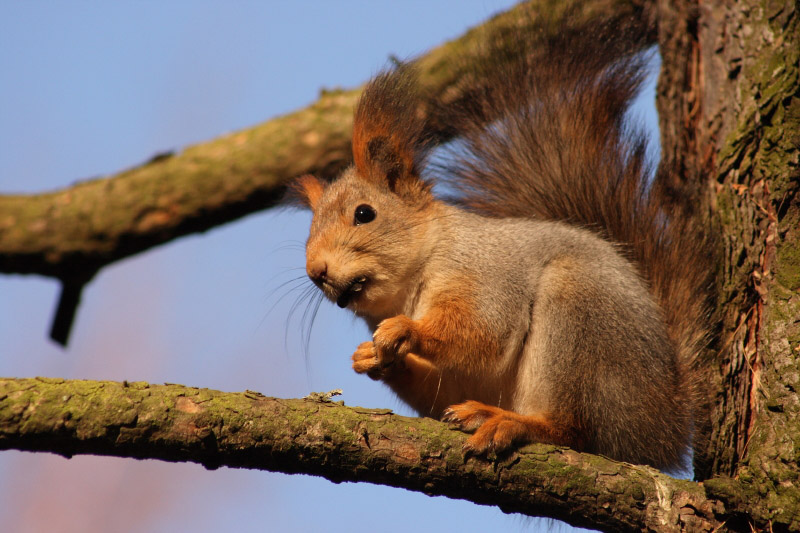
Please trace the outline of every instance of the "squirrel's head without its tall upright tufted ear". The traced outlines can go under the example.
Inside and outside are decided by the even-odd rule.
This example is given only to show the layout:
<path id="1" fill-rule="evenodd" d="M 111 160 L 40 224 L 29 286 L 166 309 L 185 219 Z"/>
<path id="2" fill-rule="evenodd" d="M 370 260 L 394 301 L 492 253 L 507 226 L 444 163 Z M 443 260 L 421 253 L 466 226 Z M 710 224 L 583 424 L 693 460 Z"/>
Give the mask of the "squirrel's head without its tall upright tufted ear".
<path id="1" fill-rule="evenodd" d="M 313 212 L 308 277 L 339 307 L 376 319 L 396 314 L 431 247 L 437 202 L 429 186 L 352 167 L 332 183 L 304 176 L 294 187 Z"/>

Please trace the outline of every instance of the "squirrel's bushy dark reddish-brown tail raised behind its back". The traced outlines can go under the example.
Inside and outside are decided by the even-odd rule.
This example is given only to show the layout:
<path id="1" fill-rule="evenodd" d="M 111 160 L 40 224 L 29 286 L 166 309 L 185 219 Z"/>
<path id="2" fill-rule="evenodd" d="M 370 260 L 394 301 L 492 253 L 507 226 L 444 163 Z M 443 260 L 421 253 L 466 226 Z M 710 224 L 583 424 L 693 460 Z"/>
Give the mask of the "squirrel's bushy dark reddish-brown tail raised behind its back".
<path id="1" fill-rule="evenodd" d="M 699 354 L 709 338 L 711 247 L 667 197 L 668 174 L 653 176 L 645 136 L 626 121 L 647 57 L 617 35 L 572 32 L 539 42 L 545 60 L 519 54 L 482 69 L 481 85 L 448 110 L 459 136 L 434 172 L 476 211 L 567 221 L 620 245 L 665 312 L 698 409 L 697 444 L 706 428 Z"/>

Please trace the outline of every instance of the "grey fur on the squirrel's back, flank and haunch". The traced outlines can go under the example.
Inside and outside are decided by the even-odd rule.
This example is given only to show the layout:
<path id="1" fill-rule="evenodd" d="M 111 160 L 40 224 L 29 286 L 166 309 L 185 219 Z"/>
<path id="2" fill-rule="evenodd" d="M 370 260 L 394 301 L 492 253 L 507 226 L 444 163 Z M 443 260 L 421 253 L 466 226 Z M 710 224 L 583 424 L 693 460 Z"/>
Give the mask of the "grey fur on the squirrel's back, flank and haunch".
<path id="1" fill-rule="evenodd" d="M 468 268 L 486 280 L 477 307 L 507 341 L 502 360 L 483 361 L 483 372 L 516 374 L 498 397 L 463 399 L 521 414 L 577 413 L 587 451 L 631 462 L 663 465 L 682 453 L 689 413 L 675 348 L 647 284 L 614 245 L 560 222 L 456 212 L 440 224 L 424 276 Z M 418 318 L 425 309 L 407 312 Z"/>

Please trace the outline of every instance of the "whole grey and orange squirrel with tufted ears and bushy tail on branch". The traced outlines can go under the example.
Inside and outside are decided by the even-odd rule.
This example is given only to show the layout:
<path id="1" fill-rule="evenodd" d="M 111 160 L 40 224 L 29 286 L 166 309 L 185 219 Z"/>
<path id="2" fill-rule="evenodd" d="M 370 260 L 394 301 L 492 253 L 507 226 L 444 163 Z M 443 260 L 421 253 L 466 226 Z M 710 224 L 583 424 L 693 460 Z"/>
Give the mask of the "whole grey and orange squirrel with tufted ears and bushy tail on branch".
<path id="1" fill-rule="evenodd" d="M 313 212 L 306 271 L 373 331 L 353 369 L 472 432 L 466 453 L 542 442 L 680 468 L 709 337 L 705 237 L 626 121 L 643 53 L 613 28 L 545 41 L 441 109 L 413 65 L 375 76 L 354 164 L 293 185 Z M 437 164 L 434 117 L 456 138 Z"/>

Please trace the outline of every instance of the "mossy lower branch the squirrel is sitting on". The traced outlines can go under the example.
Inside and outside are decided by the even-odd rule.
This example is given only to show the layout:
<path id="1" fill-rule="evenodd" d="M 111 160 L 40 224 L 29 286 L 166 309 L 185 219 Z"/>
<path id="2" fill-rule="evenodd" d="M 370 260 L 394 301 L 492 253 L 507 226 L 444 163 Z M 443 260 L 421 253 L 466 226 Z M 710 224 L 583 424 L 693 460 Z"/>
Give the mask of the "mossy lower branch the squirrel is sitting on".
<path id="1" fill-rule="evenodd" d="M 368 481 L 613 531 L 711 531 L 703 484 L 549 445 L 464 458 L 432 419 L 181 385 L 0 379 L 0 449 L 191 461 Z"/>

